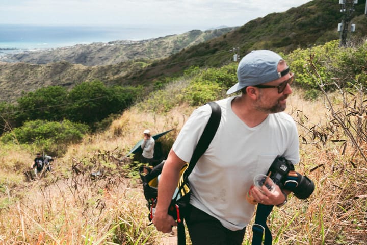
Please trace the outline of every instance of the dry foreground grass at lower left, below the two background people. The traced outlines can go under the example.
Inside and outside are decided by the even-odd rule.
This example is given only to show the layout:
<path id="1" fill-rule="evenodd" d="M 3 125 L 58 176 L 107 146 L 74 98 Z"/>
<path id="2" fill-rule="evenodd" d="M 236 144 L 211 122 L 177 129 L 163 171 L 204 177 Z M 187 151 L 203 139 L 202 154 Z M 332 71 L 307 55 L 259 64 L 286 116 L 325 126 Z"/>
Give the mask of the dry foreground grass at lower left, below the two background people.
<path id="1" fill-rule="evenodd" d="M 98 153 L 90 160 L 100 165 L 113 154 Z M 101 178 L 91 178 L 94 168 L 74 161 L 70 178 L 61 179 L 63 173 L 57 168 L 23 185 L 27 191 L 17 188 L 18 193 L 9 194 L 13 204 L 0 211 L 0 244 L 159 242 L 161 235 L 147 226 L 140 185 L 125 179 L 124 162 L 110 163 L 115 163 L 116 171 L 107 169 Z M 147 238 L 150 242 L 141 242 Z"/>

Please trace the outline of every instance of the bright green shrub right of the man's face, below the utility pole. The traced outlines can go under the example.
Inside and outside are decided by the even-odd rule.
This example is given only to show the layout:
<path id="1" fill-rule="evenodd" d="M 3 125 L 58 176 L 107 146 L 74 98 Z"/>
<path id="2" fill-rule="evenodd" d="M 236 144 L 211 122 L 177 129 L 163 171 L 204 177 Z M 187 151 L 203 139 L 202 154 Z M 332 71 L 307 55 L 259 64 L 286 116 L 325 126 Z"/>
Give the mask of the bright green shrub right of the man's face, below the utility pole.
<path id="1" fill-rule="evenodd" d="M 339 47 L 339 40 L 334 40 L 324 45 L 294 50 L 285 59 L 291 71 L 295 73 L 296 86 L 306 90 L 319 89 L 317 82 L 321 79 L 325 91 L 332 91 L 335 89 L 334 82 L 337 82 L 340 88 L 353 86 L 354 80 L 363 86 L 366 85 L 366 80 L 363 79 L 365 57 L 367 57 L 367 42 L 358 47 Z M 312 70 L 308 62 L 310 59 L 318 70 L 319 81 L 316 81 L 309 72 Z"/>

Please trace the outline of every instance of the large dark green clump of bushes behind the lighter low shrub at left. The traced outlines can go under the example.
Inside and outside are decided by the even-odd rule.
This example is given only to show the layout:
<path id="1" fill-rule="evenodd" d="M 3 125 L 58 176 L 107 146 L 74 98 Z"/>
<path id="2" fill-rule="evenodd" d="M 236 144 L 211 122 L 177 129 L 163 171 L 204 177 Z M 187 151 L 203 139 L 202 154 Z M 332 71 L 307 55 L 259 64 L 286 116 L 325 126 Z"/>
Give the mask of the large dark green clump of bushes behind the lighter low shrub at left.
<path id="1" fill-rule="evenodd" d="M 142 87 L 107 87 L 101 81 L 83 82 L 70 92 L 61 86 L 49 86 L 35 92 L 23 93 L 17 105 L 0 104 L 0 114 L 11 128 L 25 121 L 60 121 L 63 118 L 88 124 L 91 129 L 97 122 L 117 114 L 132 105 Z"/>

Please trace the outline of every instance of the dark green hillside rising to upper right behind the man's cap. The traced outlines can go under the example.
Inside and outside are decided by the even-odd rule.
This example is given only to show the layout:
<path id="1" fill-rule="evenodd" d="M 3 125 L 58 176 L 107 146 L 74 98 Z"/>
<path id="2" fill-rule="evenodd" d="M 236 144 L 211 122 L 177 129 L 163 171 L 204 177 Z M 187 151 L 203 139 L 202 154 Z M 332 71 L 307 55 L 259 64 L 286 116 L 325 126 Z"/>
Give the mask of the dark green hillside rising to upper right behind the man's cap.
<path id="1" fill-rule="evenodd" d="M 353 38 L 367 35 L 367 18 L 364 3 L 355 5 Z M 190 66 L 212 67 L 228 63 L 233 56 L 230 50 L 239 47 L 240 56 L 256 49 L 271 49 L 289 53 L 295 48 L 305 48 L 339 38 L 337 24 L 342 20 L 340 5 L 333 0 L 313 0 L 283 13 L 268 14 L 254 19 L 221 37 L 200 43 L 181 52 L 128 74 L 124 79 L 147 81 L 163 76 L 180 74 Z M 123 81 L 123 80 L 121 80 Z"/>

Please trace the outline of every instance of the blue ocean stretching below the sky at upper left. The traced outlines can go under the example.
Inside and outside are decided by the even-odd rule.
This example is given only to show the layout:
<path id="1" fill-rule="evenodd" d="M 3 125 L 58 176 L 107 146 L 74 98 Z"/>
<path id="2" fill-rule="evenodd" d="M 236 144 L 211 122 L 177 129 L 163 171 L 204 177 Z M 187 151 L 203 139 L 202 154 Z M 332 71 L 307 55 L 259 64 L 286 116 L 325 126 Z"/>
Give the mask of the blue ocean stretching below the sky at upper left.
<path id="1" fill-rule="evenodd" d="M 0 24 L 0 55 L 109 42 L 145 40 L 181 34 L 195 28 L 185 26 L 28 26 Z M 197 28 L 198 29 L 198 28 Z"/>

